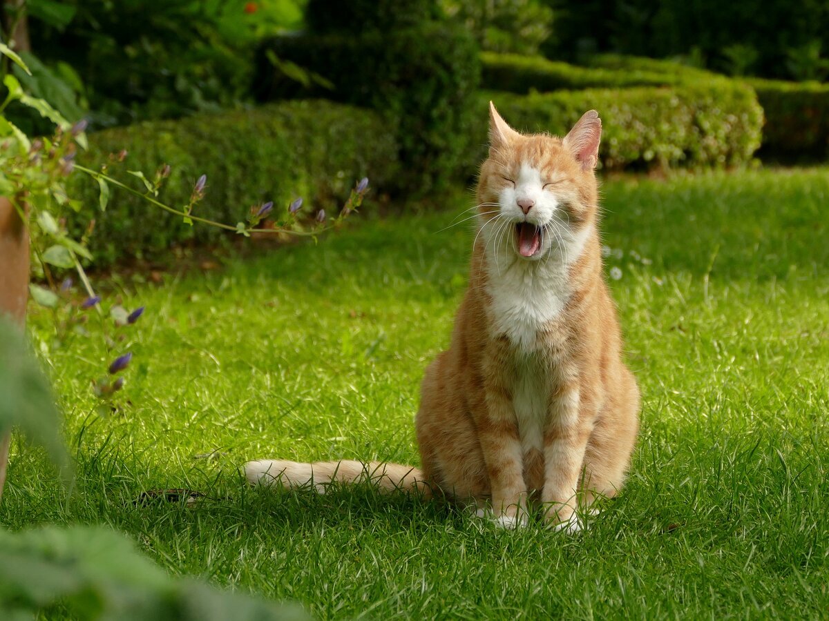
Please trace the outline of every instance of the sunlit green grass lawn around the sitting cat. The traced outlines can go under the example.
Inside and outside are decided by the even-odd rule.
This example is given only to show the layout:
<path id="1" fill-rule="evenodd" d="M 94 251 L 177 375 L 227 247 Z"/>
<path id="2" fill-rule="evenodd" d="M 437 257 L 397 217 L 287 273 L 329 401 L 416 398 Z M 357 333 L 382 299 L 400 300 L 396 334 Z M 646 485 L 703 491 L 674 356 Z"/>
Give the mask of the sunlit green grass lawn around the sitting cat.
<path id="1" fill-rule="evenodd" d="M 268 456 L 417 463 L 420 378 L 467 279 L 469 223 L 443 230 L 472 205 L 463 194 L 218 272 L 114 283 L 110 298 L 147 306 L 123 344 L 118 415 L 95 413 L 99 342 L 55 348 L 51 315 L 32 308 L 75 488 L 16 443 L 0 522 L 104 522 L 173 574 L 320 619 L 827 614 L 829 169 L 608 181 L 603 195 L 642 433 L 626 489 L 588 532 L 240 479 Z M 207 497 L 133 502 L 159 488 Z"/>

